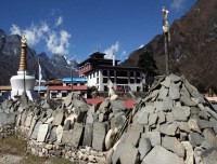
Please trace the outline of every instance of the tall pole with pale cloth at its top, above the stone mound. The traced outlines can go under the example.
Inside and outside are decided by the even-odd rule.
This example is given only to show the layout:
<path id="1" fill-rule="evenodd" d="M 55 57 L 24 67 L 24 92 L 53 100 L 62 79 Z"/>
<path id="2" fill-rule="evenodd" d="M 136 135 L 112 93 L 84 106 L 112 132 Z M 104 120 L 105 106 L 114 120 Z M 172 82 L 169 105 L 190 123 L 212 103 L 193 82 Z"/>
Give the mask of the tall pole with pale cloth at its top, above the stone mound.
<path id="1" fill-rule="evenodd" d="M 170 41 L 169 33 L 169 24 L 167 17 L 169 14 L 168 10 L 165 10 L 163 6 L 163 30 L 164 30 L 164 50 L 165 50 L 165 66 L 166 66 L 166 76 L 169 76 L 169 52 L 168 52 L 168 42 Z"/>

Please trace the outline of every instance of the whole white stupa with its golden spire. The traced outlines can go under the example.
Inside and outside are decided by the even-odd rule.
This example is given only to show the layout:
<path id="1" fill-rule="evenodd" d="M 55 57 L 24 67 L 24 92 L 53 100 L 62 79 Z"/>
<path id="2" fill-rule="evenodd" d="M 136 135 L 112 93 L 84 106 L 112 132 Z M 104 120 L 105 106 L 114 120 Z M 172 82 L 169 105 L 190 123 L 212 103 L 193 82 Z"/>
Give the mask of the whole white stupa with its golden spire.
<path id="1" fill-rule="evenodd" d="M 34 92 L 35 87 L 35 77 L 29 76 L 27 72 L 27 60 L 26 60 L 26 38 L 25 36 L 22 37 L 22 51 L 21 51 L 21 62 L 20 62 L 20 68 L 17 71 L 17 76 L 13 76 L 11 78 L 11 98 L 14 100 L 17 100 L 21 95 L 26 92 L 26 95 L 30 100 L 39 99 L 39 95 Z"/>

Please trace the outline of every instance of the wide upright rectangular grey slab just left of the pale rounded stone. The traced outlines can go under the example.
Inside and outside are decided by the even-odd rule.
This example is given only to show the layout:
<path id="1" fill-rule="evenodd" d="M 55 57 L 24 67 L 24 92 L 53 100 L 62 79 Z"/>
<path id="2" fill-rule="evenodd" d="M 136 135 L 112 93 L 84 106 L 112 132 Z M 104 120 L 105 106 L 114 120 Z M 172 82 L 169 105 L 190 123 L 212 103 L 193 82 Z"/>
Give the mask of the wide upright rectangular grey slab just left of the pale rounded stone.
<path id="1" fill-rule="evenodd" d="M 104 138 L 105 138 L 105 123 L 93 123 L 93 140 L 92 147 L 95 150 L 104 150 Z"/>

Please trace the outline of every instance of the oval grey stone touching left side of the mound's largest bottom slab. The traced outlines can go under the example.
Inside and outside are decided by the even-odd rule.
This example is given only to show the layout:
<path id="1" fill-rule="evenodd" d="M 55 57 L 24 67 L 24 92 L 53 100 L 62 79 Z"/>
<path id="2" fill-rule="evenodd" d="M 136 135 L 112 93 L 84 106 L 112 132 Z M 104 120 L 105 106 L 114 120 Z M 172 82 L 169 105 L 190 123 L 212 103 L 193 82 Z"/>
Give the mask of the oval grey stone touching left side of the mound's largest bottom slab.
<path id="1" fill-rule="evenodd" d="M 149 138 L 141 137 L 139 141 L 139 152 L 140 152 L 140 160 L 146 155 L 148 152 L 152 149 L 152 145 Z"/>

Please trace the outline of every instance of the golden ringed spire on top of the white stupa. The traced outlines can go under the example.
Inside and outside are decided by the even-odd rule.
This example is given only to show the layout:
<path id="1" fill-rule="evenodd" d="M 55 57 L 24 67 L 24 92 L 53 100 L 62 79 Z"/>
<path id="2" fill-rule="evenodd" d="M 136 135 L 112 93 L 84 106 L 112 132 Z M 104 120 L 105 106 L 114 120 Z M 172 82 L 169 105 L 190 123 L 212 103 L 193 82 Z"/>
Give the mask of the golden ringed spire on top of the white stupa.
<path id="1" fill-rule="evenodd" d="M 26 60 L 26 38 L 25 36 L 22 37 L 21 39 L 21 60 L 20 60 L 20 67 L 18 67 L 18 71 L 25 71 L 27 70 L 27 60 Z"/>

